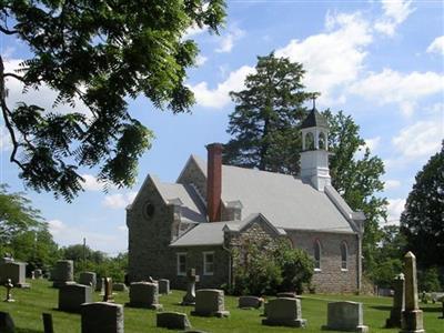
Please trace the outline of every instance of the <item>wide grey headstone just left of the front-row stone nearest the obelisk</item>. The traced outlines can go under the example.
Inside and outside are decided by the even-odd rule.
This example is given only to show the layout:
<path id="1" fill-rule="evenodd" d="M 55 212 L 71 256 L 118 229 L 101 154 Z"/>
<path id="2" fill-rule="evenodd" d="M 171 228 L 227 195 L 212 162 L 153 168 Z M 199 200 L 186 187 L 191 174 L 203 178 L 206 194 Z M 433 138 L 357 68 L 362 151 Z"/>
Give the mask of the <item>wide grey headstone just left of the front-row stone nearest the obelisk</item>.
<path id="1" fill-rule="evenodd" d="M 266 305 L 266 319 L 263 325 L 305 327 L 306 320 L 302 319 L 301 300 L 281 297 L 271 300 Z"/>

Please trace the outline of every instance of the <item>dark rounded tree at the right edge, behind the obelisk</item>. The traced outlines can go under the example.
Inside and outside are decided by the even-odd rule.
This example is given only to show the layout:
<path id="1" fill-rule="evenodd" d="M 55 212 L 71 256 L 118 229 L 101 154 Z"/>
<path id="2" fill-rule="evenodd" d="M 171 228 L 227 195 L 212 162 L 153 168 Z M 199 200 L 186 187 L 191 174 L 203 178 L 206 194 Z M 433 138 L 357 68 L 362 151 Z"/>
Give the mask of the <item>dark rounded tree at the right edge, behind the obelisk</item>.
<path id="1" fill-rule="evenodd" d="M 416 174 L 405 210 L 401 214 L 401 231 L 406 236 L 406 250 L 415 253 L 422 269 L 444 268 L 444 141 Z"/>

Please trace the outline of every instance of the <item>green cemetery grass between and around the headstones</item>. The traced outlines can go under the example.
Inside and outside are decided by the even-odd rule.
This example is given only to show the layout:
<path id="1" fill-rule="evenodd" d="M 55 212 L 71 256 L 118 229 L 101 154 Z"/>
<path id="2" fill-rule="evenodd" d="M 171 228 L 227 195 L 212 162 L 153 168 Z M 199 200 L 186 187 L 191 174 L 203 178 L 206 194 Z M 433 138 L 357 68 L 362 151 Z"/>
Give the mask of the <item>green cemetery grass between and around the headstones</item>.
<path id="1" fill-rule="evenodd" d="M 13 289 L 12 295 L 14 303 L 0 302 L 0 311 L 9 312 L 16 323 L 17 333 L 41 333 L 43 323 L 41 314 L 50 312 L 53 316 L 56 333 L 79 333 L 80 315 L 56 310 L 58 306 L 58 290 L 51 287 L 51 283 L 46 280 L 32 280 L 31 289 Z M 1 289 L 0 296 L 3 300 L 6 289 Z M 225 310 L 231 315 L 228 319 L 199 317 L 190 315 L 193 306 L 178 305 L 184 292 L 173 291 L 170 295 L 160 296 L 160 303 L 164 311 L 184 312 L 189 315 L 190 322 L 195 330 L 205 332 L 297 332 L 301 329 L 263 326 L 261 324 L 263 310 L 240 310 L 238 299 L 225 296 Z M 94 293 L 94 300 L 101 301 L 99 293 Z M 114 295 L 117 303 L 124 304 L 129 301 L 128 293 L 119 292 Z M 385 319 L 389 317 L 392 299 L 355 295 L 303 295 L 302 317 L 307 320 L 307 326 L 301 332 L 321 332 L 321 326 L 326 323 L 326 303 L 329 301 L 356 301 L 364 303 L 364 324 L 370 327 L 370 332 L 397 333 L 397 329 L 383 329 Z M 424 311 L 424 325 L 427 333 L 444 332 L 444 320 L 437 317 L 442 315 L 441 303 L 421 304 Z M 124 307 L 124 332 L 174 332 L 165 329 L 155 327 L 155 311 L 144 309 Z M 333 332 L 333 331 L 327 331 Z M 100 333 L 100 332 L 98 332 Z"/>

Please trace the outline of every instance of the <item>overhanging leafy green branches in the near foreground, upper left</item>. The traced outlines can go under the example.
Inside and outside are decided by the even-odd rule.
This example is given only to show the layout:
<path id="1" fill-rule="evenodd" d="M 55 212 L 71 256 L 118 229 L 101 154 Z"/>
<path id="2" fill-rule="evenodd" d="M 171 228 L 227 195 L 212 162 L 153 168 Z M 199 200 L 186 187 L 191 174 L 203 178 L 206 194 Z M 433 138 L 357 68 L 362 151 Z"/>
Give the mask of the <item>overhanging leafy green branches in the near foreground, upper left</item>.
<path id="1" fill-rule="evenodd" d="M 131 185 L 153 133 L 130 115 L 128 98 L 143 94 L 157 108 L 189 111 L 185 69 L 198 48 L 185 30 L 218 32 L 224 16 L 223 0 L 0 1 L 0 33 L 20 39 L 32 54 L 16 72 L 6 72 L 0 58 L 10 161 L 24 183 L 71 201 L 82 190 L 78 168 L 100 165 L 107 184 Z M 51 88 L 54 109 L 8 105 L 7 80 L 19 80 L 24 91 Z M 59 111 L 75 103 L 83 112 Z"/>

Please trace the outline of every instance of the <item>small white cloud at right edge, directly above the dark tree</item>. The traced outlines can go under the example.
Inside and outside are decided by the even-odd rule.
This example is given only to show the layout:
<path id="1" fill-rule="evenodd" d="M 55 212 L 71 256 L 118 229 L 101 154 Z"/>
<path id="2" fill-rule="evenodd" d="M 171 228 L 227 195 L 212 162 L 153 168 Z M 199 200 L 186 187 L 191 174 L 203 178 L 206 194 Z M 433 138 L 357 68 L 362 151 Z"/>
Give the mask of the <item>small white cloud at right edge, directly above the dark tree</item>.
<path id="1" fill-rule="evenodd" d="M 392 143 L 400 152 L 401 158 L 414 160 L 430 157 L 441 148 L 444 138 L 443 115 L 437 121 L 418 121 L 406 127 L 392 139 Z"/>

